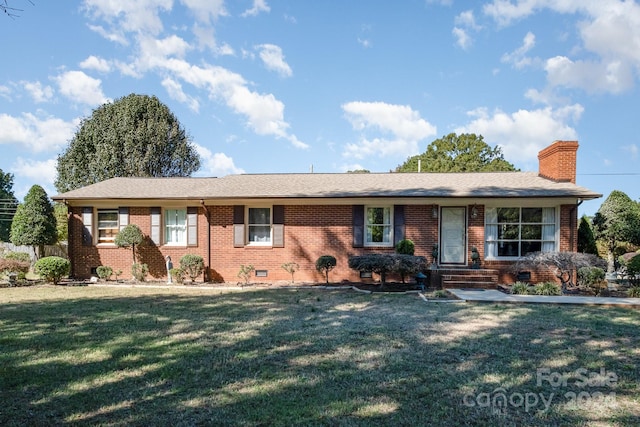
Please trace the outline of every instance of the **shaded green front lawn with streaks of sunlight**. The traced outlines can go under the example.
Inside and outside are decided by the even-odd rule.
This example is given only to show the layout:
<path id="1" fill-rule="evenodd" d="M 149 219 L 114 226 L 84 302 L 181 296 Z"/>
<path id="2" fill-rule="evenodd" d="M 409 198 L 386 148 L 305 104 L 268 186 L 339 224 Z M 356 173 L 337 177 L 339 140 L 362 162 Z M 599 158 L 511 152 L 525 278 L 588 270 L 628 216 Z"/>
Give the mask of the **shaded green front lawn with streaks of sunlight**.
<path id="1" fill-rule="evenodd" d="M 637 425 L 639 327 L 416 294 L 6 288 L 0 425 Z"/>

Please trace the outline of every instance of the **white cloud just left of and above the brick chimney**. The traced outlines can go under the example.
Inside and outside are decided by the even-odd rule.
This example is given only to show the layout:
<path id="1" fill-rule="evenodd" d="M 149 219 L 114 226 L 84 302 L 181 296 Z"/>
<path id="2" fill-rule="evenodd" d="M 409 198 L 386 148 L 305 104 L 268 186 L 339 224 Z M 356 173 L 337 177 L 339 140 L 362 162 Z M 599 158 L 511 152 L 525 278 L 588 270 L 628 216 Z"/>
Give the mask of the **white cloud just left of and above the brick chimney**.
<path id="1" fill-rule="evenodd" d="M 533 164 L 538 152 L 555 140 L 575 140 L 576 130 L 568 122 L 578 121 L 584 111 L 580 104 L 553 109 L 518 110 L 489 113 L 478 108 L 467 114 L 473 120 L 455 129 L 456 133 L 475 133 L 490 145 L 498 143 L 505 159 L 516 165 Z"/>

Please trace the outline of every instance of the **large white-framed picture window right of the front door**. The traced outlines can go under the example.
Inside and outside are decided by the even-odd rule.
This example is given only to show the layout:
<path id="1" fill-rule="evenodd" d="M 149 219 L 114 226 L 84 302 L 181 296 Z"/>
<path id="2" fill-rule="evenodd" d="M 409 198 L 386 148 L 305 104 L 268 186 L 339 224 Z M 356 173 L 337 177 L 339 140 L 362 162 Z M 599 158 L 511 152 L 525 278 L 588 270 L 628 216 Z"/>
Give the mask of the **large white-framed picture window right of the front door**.
<path id="1" fill-rule="evenodd" d="M 491 207 L 485 211 L 487 258 L 517 258 L 557 248 L 556 209 Z"/>

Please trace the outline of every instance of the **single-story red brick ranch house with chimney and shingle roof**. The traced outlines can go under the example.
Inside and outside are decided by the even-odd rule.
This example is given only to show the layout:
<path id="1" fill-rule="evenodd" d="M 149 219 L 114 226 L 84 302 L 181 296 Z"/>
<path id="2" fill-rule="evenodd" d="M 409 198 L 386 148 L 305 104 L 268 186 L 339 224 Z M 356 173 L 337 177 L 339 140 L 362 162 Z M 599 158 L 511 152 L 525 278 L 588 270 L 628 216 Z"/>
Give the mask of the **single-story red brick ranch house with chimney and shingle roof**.
<path id="1" fill-rule="evenodd" d="M 576 185 L 576 141 L 555 141 L 539 155 L 539 171 L 489 173 L 243 174 L 222 178 L 113 178 L 53 197 L 69 210 L 72 276 L 107 265 L 131 277 L 131 250 L 114 245 L 127 224 L 148 236 L 139 262 L 166 280 L 165 258 L 201 255 L 204 281 L 237 282 L 251 264 L 260 282 L 322 282 L 321 255 L 333 255 L 333 282 L 367 280 L 348 257 L 392 253 L 403 238 L 432 261 L 445 281 L 470 271 L 471 248 L 482 274 L 514 281 L 510 265 L 532 251 L 575 251 L 577 211 L 602 197 Z M 477 271 L 476 274 L 479 274 Z M 548 274 L 532 272 L 532 280 Z M 369 279 L 371 280 L 371 279 Z M 471 280 L 471 279 L 469 279 Z"/>

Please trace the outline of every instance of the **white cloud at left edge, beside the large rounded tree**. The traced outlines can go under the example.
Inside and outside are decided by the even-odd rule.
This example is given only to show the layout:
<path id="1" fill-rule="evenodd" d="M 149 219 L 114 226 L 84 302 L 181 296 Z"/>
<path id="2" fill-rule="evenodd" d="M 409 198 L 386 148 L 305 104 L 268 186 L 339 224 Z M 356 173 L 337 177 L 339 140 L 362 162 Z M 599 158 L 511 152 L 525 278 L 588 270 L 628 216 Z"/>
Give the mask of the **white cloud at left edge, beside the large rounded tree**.
<path id="1" fill-rule="evenodd" d="M 0 144 L 22 144 L 34 152 L 62 148 L 75 133 L 79 120 L 65 122 L 55 117 L 20 117 L 0 114 Z"/>

